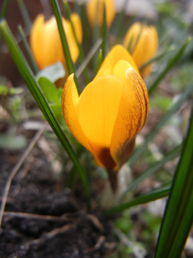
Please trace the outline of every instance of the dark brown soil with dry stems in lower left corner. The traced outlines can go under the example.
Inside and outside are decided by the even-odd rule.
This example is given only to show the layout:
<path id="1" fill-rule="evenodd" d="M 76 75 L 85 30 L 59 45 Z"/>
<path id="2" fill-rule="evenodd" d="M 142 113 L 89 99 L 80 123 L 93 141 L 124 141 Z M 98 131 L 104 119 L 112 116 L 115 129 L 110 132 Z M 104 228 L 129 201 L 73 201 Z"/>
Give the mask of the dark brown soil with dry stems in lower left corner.
<path id="1" fill-rule="evenodd" d="M 0 198 L 21 153 L 0 150 Z M 81 195 L 80 195 L 81 196 Z M 58 187 L 38 148 L 13 178 L 0 229 L 1 258 L 102 258 L 115 250 L 100 210 Z M 50 216 L 50 217 L 49 217 Z"/>

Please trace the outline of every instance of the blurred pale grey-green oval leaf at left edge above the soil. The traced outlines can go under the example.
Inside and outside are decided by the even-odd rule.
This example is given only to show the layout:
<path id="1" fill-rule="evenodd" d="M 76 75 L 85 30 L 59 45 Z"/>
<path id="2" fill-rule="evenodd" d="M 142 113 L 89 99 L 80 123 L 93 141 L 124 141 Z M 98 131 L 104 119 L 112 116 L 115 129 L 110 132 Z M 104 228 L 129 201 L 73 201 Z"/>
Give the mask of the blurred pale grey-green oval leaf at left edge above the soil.
<path id="1" fill-rule="evenodd" d="M 0 135 L 0 148 L 19 150 L 27 146 L 27 139 L 23 135 Z"/>

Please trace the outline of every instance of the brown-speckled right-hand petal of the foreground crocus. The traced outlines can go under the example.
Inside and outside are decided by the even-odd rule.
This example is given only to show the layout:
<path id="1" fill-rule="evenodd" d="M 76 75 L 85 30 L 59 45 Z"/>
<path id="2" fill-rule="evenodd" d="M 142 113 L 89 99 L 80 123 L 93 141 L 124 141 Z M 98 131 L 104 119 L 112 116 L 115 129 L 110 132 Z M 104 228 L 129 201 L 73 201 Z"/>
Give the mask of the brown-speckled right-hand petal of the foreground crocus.
<path id="1" fill-rule="evenodd" d="M 134 141 L 147 115 L 146 86 L 138 73 L 128 68 L 110 142 L 110 154 L 119 166 L 129 158 L 131 153 L 128 150 L 134 145 L 130 141 Z"/>

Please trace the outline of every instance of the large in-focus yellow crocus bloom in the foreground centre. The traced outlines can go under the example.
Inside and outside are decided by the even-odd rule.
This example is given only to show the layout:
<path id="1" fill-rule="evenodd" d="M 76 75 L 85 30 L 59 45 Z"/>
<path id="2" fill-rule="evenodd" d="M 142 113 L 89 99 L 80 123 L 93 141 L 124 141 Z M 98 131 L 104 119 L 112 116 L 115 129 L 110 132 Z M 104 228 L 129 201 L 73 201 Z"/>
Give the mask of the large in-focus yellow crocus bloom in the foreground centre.
<path id="1" fill-rule="evenodd" d="M 73 74 L 62 94 L 68 128 L 93 154 L 96 164 L 107 169 L 113 190 L 117 169 L 131 155 L 148 115 L 148 93 L 137 69 L 126 49 L 117 45 L 80 96 Z"/>

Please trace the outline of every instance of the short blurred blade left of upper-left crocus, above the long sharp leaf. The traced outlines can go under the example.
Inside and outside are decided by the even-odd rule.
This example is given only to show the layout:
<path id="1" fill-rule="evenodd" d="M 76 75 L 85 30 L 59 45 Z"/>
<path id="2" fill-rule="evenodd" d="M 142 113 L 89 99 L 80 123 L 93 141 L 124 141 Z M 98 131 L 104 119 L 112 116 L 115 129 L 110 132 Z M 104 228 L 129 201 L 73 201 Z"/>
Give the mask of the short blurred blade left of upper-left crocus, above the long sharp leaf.
<path id="1" fill-rule="evenodd" d="M 30 64 L 31 64 L 31 68 L 32 68 L 33 72 L 34 72 L 35 74 L 37 74 L 38 71 L 39 71 L 39 69 L 38 69 L 38 66 L 37 66 L 37 64 L 36 64 L 36 62 L 35 62 L 35 60 L 34 60 L 34 58 L 33 58 L 33 55 L 32 55 L 32 53 L 31 53 L 31 49 L 30 49 L 29 44 L 28 44 L 28 40 L 26 39 L 24 30 L 22 29 L 22 26 L 21 26 L 21 25 L 18 26 L 18 30 L 19 30 L 20 35 L 21 35 L 21 37 L 22 37 L 22 42 L 23 42 L 23 44 L 24 44 L 24 48 L 25 48 L 25 51 L 26 51 L 26 53 L 27 53 L 29 62 L 30 62 Z"/>

